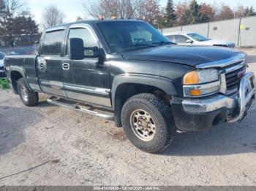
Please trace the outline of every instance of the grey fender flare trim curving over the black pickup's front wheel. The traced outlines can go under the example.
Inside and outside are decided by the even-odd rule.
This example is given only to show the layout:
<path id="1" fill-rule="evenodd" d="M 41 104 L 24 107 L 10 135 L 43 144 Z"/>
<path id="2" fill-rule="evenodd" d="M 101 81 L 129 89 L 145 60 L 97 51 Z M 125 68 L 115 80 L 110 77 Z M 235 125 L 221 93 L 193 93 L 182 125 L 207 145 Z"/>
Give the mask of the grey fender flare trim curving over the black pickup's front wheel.
<path id="1" fill-rule="evenodd" d="M 139 84 L 157 87 L 167 93 L 167 95 L 178 95 L 176 87 L 170 79 L 148 74 L 120 74 L 113 79 L 111 98 L 113 108 L 115 108 L 116 90 L 120 85 Z"/>

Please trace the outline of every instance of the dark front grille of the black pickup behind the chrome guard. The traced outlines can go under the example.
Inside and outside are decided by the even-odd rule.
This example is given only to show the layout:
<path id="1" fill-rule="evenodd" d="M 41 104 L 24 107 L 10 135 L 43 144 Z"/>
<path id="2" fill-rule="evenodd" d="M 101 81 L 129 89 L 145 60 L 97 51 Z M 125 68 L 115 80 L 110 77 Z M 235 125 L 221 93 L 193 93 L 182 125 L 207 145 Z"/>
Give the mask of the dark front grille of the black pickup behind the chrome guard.
<path id="1" fill-rule="evenodd" d="M 242 67 L 241 69 L 237 69 L 235 71 L 231 71 L 230 73 L 225 74 L 226 83 L 227 83 L 227 91 L 238 89 L 240 79 L 238 77 L 238 73 L 244 71 L 246 67 Z"/>

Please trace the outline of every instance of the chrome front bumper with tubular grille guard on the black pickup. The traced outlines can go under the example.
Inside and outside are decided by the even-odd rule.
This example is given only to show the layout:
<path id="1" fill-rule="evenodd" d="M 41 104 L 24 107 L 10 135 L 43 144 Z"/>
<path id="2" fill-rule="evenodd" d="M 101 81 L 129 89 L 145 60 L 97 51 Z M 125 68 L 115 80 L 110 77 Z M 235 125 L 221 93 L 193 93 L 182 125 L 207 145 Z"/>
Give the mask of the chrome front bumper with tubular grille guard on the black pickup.
<path id="1" fill-rule="evenodd" d="M 186 99 L 182 101 L 185 112 L 191 114 L 203 114 L 213 112 L 217 109 L 239 109 L 235 117 L 227 118 L 227 122 L 239 122 L 243 119 L 247 110 L 247 105 L 255 98 L 256 80 L 252 72 L 247 72 L 241 79 L 239 93 L 233 96 L 217 95 L 206 99 Z"/>

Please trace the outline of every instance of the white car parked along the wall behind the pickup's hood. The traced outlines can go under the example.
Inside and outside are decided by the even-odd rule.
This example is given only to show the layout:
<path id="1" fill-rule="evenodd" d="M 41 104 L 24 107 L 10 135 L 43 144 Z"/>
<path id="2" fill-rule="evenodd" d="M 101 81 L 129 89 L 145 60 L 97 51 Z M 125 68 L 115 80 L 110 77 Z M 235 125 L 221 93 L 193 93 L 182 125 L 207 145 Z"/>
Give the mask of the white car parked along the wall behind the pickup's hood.
<path id="1" fill-rule="evenodd" d="M 176 44 L 193 46 L 218 46 L 218 47 L 236 47 L 236 44 L 226 40 L 214 40 L 209 39 L 206 36 L 194 33 L 194 32 L 176 32 L 176 33 L 164 33 L 164 35 L 170 39 L 170 42 Z"/>

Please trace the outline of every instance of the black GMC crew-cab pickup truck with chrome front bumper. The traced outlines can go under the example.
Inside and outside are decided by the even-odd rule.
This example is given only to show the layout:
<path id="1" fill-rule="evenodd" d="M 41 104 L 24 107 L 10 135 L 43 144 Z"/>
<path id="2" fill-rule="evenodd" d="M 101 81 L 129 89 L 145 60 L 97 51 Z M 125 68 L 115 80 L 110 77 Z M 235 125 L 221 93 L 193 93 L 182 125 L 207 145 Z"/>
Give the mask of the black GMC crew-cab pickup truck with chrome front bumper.
<path id="1" fill-rule="evenodd" d="M 146 152 L 177 131 L 240 122 L 256 93 L 246 55 L 173 44 L 138 20 L 89 20 L 48 28 L 36 55 L 6 56 L 7 78 L 26 106 L 48 102 L 115 120 Z"/>

